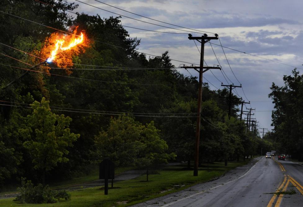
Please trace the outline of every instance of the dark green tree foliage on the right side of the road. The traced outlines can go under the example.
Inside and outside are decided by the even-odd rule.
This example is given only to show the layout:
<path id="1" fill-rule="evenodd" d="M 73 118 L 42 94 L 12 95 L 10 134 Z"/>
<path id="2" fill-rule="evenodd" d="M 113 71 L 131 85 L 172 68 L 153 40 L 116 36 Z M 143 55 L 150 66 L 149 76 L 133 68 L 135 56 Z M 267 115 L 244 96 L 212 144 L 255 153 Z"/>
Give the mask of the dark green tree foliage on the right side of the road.
<path id="1" fill-rule="evenodd" d="M 278 142 L 280 151 L 303 159 L 303 115 L 302 105 L 303 76 L 294 69 L 292 75 L 283 77 L 284 86 L 273 83 L 269 97 L 273 99 L 275 110 L 272 112 L 274 126 L 273 139 Z"/>

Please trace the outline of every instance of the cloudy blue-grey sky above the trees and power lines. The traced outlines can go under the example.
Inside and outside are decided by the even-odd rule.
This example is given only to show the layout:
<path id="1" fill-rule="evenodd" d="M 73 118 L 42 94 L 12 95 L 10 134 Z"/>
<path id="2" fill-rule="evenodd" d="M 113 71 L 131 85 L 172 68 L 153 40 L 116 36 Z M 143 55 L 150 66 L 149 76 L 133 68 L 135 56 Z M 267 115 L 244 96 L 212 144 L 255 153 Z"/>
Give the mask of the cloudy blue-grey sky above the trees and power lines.
<path id="1" fill-rule="evenodd" d="M 209 82 L 211 89 L 223 88 L 221 83 L 224 85 L 233 83 L 237 86 L 242 84 L 242 88 L 236 88 L 236 90 L 233 90 L 233 94 L 242 97 L 246 102 L 250 101 L 250 104 L 246 104 L 246 107 L 256 109 L 254 110 L 254 118 L 259 121 L 259 128 L 267 128 L 269 130 L 273 128 L 271 126 L 271 111 L 274 110 L 274 104 L 268 97 L 272 83 L 282 86 L 284 85 L 283 75 L 291 75 L 295 67 L 298 68 L 300 73 L 303 70 L 303 1 L 301 0 L 67 1 L 79 4 L 79 7 L 74 10 L 79 13 L 98 14 L 102 18 L 118 16 L 108 12 L 111 11 L 174 29 L 122 17 L 120 20 L 124 26 L 161 32 L 185 33 L 167 34 L 125 27 L 131 38 L 141 39 L 141 43 L 138 46 L 139 52 L 158 56 L 168 50 L 171 59 L 199 64 L 200 53 L 197 47 L 200 50 L 201 44 L 196 41 L 196 46 L 193 40 L 188 39 L 188 34 L 198 37 L 203 35 L 201 33 L 208 32 L 206 34 L 210 37 L 214 36 L 213 33 L 218 34 L 224 47 L 255 55 L 251 56 L 224 48 L 227 62 L 222 47 L 212 45 L 215 51 L 214 54 L 210 44 L 206 43 L 204 60 L 207 65 L 221 65 L 223 70 L 212 70 L 213 74 L 210 71 L 205 72 L 203 74 L 203 82 Z M 107 6 L 101 2 L 165 23 L 195 30 L 150 20 Z M 198 32 L 196 30 L 203 32 L 195 33 Z M 211 40 L 210 42 L 220 45 L 219 40 Z M 172 61 L 172 63 L 176 67 L 183 64 L 178 61 Z M 189 66 L 190 64 L 186 65 Z M 184 69 L 178 70 L 187 76 L 191 74 L 198 76 L 198 72 L 193 69 L 188 69 L 189 72 Z M 259 129 L 259 131 L 262 131 L 262 129 Z"/>

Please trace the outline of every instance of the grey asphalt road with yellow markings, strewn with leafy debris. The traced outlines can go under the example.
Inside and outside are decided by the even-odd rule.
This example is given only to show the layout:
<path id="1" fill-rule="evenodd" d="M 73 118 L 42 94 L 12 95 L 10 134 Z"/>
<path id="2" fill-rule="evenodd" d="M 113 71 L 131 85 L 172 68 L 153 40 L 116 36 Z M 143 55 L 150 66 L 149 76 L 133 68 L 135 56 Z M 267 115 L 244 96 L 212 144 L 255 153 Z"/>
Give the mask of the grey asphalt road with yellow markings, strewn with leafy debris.
<path id="1" fill-rule="evenodd" d="M 240 167 L 215 181 L 134 206 L 302 206 L 303 165 L 277 156 L 258 159 L 248 169 Z M 285 193 L 275 194 L 279 189 Z"/>

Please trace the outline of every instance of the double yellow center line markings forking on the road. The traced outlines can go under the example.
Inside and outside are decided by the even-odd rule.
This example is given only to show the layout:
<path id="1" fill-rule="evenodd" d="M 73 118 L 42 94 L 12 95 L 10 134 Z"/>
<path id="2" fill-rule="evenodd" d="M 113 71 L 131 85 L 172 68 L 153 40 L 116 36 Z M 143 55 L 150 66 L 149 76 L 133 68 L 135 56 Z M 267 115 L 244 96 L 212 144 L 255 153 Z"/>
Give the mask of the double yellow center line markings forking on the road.
<path id="1" fill-rule="evenodd" d="M 277 161 L 275 161 L 277 162 Z M 285 168 L 283 167 L 283 165 L 280 162 L 277 162 L 279 164 L 279 167 L 281 169 L 282 172 L 285 172 Z M 278 197 L 276 204 L 274 205 L 275 207 L 279 207 L 281 202 L 282 202 L 282 198 L 283 198 L 283 194 L 277 195 L 278 192 L 280 191 L 286 191 L 289 182 L 292 183 L 293 186 L 295 186 L 298 191 L 303 195 L 303 186 L 301 186 L 294 178 L 292 178 L 290 175 L 284 175 L 284 180 L 282 182 L 282 184 L 279 186 L 278 190 L 275 192 L 274 196 L 270 199 L 267 207 L 272 207 L 276 198 Z"/>

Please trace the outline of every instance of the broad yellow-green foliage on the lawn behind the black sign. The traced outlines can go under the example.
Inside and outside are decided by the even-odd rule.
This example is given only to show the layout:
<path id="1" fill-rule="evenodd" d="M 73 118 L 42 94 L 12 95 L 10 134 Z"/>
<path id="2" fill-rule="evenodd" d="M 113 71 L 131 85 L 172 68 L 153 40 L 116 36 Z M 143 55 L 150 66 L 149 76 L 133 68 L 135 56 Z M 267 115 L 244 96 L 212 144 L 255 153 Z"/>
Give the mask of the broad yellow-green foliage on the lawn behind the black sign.
<path id="1" fill-rule="evenodd" d="M 168 145 L 159 132 L 153 122 L 142 125 L 130 116 L 112 118 L 108 129 L 95 137 L 97 161 L 109 157 L 115 166 L 138 167 L 167 163 L 175 155 L 167 154 Z"/>

